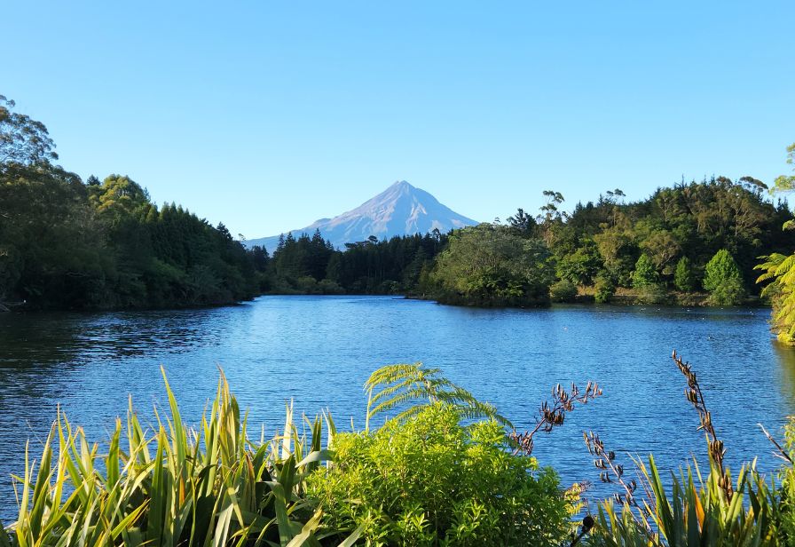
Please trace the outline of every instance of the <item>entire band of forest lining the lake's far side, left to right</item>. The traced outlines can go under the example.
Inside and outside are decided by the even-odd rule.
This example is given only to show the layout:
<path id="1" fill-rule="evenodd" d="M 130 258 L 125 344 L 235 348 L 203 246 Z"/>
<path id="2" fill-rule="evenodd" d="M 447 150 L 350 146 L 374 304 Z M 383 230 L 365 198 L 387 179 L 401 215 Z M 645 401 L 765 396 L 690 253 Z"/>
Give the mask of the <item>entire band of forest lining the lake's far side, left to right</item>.
<path id="1" fill-rule="evenodd" d="M 776 305 L 790 295 L 780 283 L 760 295 L 755 282 L 760 261 L 762 281 L 789 271 L 795 238 L 787 203 L 750 176 L 681 180 L 637 202 L 616 188 L 571 210 L 546 190 L 535 215 L 520 208 L 504 222 L 373 235 L 345 249 L 319 232 L 287 234 L 270 255 L 175 203 L 159 207 L 129 177 L 83 181 L 55 163 L 43 123 L 14 106 L 0 96 L 0 309 L 217 305 L 260 294 L 484 306 L 741 305 L 760 296 Z M 774 183 L 791 186 L 791 177 Z M 795 297 L 782 313 L 795 324 Z"/>

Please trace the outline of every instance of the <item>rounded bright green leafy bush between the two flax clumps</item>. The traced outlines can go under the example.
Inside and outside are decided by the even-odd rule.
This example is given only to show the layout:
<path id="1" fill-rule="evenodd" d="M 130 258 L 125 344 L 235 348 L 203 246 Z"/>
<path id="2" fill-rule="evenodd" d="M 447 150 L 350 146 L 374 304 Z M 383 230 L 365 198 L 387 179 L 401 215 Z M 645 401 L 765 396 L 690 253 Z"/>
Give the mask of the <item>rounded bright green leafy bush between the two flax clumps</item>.
<path id="1" fill-rule="evenodd" d="M 514 456 L 494 420 L 460 425 L 435 403 L 375 432 L 340 433 L 334 464 L 307 480 L 322 523 L 367 544 L 559 545 L 569 503 L 551 469 Z"/>

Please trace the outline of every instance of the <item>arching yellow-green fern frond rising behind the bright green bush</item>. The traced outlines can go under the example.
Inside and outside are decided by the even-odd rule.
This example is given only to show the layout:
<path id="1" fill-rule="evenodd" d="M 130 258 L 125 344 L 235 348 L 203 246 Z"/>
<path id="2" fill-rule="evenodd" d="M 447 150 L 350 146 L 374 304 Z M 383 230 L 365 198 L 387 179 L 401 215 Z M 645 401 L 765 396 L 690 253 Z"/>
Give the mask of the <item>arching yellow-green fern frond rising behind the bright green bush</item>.
<path id="1" fill-rule="evenodd" d="M 377 414 L 408 405 L 408 408 L 395 416 L 402 421 L 415 415 L 422 407 L 437 401 L 455 406 L 463 418 L 492 418 L 513 428 L 507 418 L 497 413 L 493 405 L 477 400 L 472 393 L 441 376 L 440 369 L 426 369 L 419 362 L 387 365 L 376 370 L 367 379 L 365 390 L 366 430 L 370 427 L 370 418 Z"/>

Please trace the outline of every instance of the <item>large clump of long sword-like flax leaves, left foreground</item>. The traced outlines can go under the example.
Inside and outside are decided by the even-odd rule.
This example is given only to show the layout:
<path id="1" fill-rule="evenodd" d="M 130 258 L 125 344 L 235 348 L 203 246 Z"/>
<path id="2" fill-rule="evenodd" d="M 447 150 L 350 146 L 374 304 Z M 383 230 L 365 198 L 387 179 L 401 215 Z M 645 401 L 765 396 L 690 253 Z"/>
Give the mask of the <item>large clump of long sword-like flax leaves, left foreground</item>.
<path id="1" fill-rule="evenodd" d="M 247 420 L 221 373 L 209 416 L 189 428 L 163 373 L 169 408 L 149 432 L 130 407 L 106 450 L 63 412 L 36 462 L 15 478 L 19 514 L 0 547 L 320 545 L 323 511 L 303 498 L 303 480 L 327 460 L 322 424 L 299 434 L 291 406 L 284 430 L 248 439 Z M 355 532 L 342 545 L 352 545 Z"/>

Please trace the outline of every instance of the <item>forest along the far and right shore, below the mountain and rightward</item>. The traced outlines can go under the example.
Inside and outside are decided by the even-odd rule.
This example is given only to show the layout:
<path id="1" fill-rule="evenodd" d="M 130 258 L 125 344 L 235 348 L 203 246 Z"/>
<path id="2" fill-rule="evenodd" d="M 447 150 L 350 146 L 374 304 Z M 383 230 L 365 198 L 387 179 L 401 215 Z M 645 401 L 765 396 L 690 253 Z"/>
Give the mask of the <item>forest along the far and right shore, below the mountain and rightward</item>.
<path id="1" fill-rule="evenodd" d="M 462 305 L 547 305 L 550 300 L 739 305 L 760 287 L 760 257 L 789 253 L 786 202 L 756 178 L 713 177 L 625 202 L 620 189 L 563 210 L 545 191 L 533 216 L 453 231 L 349 244 L 287 234 L 256 252 L 274 293 L 408 294 Z"/>

